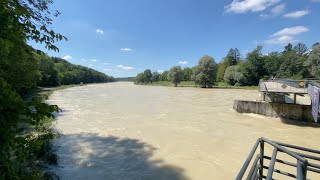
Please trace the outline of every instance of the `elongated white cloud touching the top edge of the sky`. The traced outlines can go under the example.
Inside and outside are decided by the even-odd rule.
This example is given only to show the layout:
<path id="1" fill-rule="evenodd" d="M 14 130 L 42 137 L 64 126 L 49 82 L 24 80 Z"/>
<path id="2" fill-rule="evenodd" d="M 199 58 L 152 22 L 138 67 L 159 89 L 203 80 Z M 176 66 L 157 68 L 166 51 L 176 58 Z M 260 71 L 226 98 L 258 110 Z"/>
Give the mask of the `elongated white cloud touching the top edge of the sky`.
<path id="1" fill-rule="evenodd" d="M 279 3 L 281 0 L 233 0 L 225 6 L 228 13 L 260 12 Z"/>

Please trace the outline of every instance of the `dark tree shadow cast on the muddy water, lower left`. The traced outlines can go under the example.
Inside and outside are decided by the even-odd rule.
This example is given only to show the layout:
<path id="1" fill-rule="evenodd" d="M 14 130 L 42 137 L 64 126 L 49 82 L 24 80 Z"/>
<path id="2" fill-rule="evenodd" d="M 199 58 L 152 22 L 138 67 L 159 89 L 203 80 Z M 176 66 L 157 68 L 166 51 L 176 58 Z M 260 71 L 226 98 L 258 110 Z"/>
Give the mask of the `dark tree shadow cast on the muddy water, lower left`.
<path id="1" fill-rule="evenodd" d="M 156 148 L 136 139 L 73 134 L 57 143 L 61 179 L 188 179 L 182 168 L 151 159 Z"/>

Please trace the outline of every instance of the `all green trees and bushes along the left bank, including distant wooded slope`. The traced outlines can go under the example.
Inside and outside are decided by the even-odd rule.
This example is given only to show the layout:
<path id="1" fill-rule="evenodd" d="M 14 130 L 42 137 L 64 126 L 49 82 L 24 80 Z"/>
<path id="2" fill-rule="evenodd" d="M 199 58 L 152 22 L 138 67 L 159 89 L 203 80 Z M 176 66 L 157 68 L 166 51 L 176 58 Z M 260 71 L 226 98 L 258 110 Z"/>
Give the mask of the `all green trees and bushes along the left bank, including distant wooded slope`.
<path id="1" fill-rule="evenodd" d="M 32 89 L 114 80 L 27 44 L 32 40 L 59 51 L 55 43 L 67 40 L 50 29 L 59 15 L 50 4 L 52 0 L 0 1 L 0 179 L 53 177 L 46 167 L 57 163 L 51 142 L 58 134 L 51 123 L 59 108 L 44 102 L 47 94 L 37 96 Z"/>

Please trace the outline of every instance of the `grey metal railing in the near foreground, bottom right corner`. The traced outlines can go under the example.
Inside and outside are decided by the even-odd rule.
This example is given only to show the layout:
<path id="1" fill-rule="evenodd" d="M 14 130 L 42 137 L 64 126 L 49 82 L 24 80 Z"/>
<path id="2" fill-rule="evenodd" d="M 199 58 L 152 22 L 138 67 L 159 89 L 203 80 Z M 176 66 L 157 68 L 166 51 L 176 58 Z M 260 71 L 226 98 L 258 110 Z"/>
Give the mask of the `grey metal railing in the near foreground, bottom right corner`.
<path id="1" fill-rule="evenodd" d="M 268 144 L 273 147 L 273 153 L 270 156 L 265 155 L 265 144 Z M 254 144 L 248 158 L 246 159 L 245 163 L 243 164 L 238 176 L 236 177 L 236 180 L 241 180 L 243 179 L 251 160 L 253 159 L 253 156 L 255 155 L 258 147 L 260 147 L 260 153 L 257 154 L 255 160 L 252 163 L 252 166 L 250 168 L 250 171 L 247 173 L 246 179 L 254 179 L 254 180 L 261 180 L 261 179 L 267 179 L 271 180 L 273 179 L 273 173 L 278 173 L 287 177 L 299 179 L 299 180 L 306 180 L 307 178 L 307 172 L 312 171 L 315 173 L 320 174 L 320 165 L 311 163 L 308 161 L 308 159 L 312 159 L 315 161 L 320 161 L 320 157 L 318 156 L 313 156 L 309 154 L 304 154 L 300 153 L 301 151 L 303 152 L 308 152 L 308 153 L 315 153 L 320 155 L 320 151 L 314 150 L 314 149 L 309 149 L 309 148 L 304 148 L 304 147 L 299 147 L 295 145 L 290 145 L 290 144 L 285 144 L 285 143 L 280 143 L 280 142 L 275 142 L 275 141 L 270 141 L 266 138 L 259 138 L 257 142 Z M 290 149 L 294 150 L 299 150 L 299 152 L 294 152 Z M 278 153 L 285 153 L 292 158 L 294 158 L 297 161 L 297 164 L 289 162 L 289 161 L 284 161 L 281 159 L 277 158 Z M 267 166 L 264 160 L 270 160 L 269 165 Z M 296 174 L 292 174 L 289 172 L 285 172 L 279 169 L 275 169 L 275 164 L 279 163 L 282 165 L 286 166 L 291 166 L 291 167 L 296 167 Z M 279 167 L 279 166 L 277 166 Z M 267 174 L 264 174 L 264 169 L 268 170 Z"/>

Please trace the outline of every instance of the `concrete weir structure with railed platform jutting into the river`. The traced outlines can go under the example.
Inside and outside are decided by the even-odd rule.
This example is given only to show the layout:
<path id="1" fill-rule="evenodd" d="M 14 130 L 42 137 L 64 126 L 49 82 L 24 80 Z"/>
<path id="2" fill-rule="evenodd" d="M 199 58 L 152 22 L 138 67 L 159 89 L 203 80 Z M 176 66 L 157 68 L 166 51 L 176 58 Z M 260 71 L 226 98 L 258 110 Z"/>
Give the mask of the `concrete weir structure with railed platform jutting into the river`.
<path id="1" fill-rule="evenodd" d="M 259 83 L 261 99 L 235 100 L 233 108 L 239 113 L 318 123 L 319 92 L 320 85 L 316 80 L 261 80 Z M 311 103 L 299 104 L 297 96 L 307 96 Z"/>

